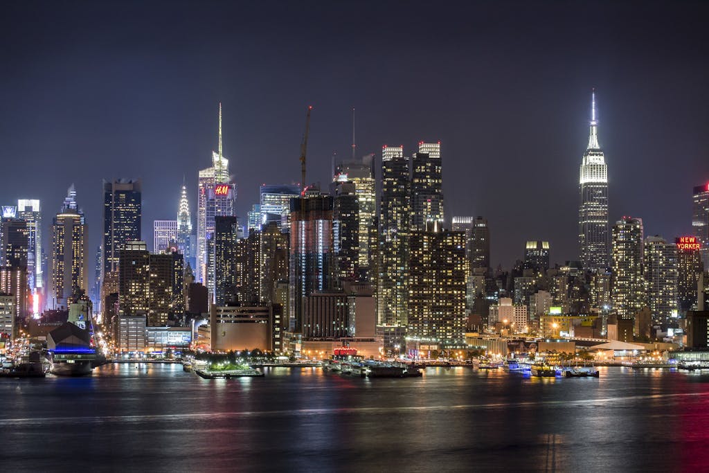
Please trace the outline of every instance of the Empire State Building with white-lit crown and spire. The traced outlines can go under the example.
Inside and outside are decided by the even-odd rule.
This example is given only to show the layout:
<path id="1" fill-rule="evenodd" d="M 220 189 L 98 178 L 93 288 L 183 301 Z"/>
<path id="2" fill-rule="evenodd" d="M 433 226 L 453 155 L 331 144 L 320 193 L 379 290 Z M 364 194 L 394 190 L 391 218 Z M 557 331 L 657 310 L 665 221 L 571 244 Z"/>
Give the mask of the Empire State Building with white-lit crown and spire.
<path id="1" fill-rule="evenodd" d="M 608 267 L 608 166 L 598 145 L 596 93 L 591 94 L 591 130 L 579 179 L 579 259 L 584 269 Z"/>

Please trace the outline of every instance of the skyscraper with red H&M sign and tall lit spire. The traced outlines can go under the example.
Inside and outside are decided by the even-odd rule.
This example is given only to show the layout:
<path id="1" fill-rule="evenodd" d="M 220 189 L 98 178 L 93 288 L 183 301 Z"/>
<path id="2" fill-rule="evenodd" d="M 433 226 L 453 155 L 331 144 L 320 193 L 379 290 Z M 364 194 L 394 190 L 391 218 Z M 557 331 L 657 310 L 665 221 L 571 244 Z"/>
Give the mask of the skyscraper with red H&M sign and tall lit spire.
<path id="1" fill-rule="evenodd" d="M 229 160 L 222 152 L 221 104 L 219 104 L 218 152 L 212 151 L 212 165 L 199 172 L 197 193 L 196 278 L 214 297 L 214 265 L 208 265 L 208 238 L 213 238 L 216 216 L 236 216 L 236 184 L 229 176 Z"/>

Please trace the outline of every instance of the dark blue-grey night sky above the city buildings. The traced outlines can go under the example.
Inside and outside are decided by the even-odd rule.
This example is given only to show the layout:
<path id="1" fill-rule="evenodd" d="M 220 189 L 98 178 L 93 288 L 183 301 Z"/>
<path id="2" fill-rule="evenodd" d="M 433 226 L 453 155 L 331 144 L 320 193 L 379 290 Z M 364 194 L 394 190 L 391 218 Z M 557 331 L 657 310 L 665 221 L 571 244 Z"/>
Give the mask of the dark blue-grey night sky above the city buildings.
<path id="1" fill-rule="evenodd" d="M 709 181 L 709 2 L 193 1 L 0 6 L 0 204 L 41 199 L 45 244 L 69 184 L 102 228 L 101 179 L 143 179 L 143 238 L 176 218 L 217 146 L 239 215 L 259 184 L 331 157 L 442 145 L 446 217 L 489 218 L 493 265 L 527 239 L 576 259 L 578 179 L 596 87 L 610 220 L 691 230 Z M 379 177 L 379 169 L 377 169 Z M 196 223 L 196 221 L 194 222 Z"/>

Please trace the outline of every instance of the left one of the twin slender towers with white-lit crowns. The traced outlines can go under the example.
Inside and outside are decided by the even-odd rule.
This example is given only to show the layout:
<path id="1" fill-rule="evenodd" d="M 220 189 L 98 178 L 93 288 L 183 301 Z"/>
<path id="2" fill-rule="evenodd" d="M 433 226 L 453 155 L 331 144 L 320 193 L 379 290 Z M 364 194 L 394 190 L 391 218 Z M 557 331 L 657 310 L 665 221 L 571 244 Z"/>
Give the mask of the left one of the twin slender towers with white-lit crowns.
<path id="1" fill-rule="evenodd" d="M 381 325 L 408 323 L 409 162 L 401 146 L 384 146 L 381 151 L 377 279 L 377 318 Z"/>

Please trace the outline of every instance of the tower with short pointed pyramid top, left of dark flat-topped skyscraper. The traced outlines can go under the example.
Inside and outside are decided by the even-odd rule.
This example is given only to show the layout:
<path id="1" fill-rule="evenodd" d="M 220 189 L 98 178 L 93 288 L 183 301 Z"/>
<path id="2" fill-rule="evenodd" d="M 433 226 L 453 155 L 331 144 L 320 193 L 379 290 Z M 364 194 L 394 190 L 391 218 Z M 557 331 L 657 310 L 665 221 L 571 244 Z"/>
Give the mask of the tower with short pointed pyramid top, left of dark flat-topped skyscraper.
<path id="1" fill-rule="evenodd" d="M 74 185 L 69 187 L 62 210 L 52 221 L 50 305 L 67 306 L 78 290 L 89 289 L 89 240 L 84 212 L 76 202 Z"/>

